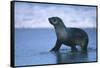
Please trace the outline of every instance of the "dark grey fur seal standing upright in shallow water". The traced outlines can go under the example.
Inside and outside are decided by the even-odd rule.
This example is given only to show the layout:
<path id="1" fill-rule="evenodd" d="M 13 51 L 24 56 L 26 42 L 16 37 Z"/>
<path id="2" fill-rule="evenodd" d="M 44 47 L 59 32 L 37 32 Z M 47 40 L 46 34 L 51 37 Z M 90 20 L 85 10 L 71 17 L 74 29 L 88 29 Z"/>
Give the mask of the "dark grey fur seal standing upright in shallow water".
<path id="1" fill-rule="evenodd" d="M 58 51 L 62 44 L 71 47 L 71 51 L 77 51 L 76 45 L 81 47 L 82 52 L 87 52 L 88 35 L 80 28 L 67 28 L 62 19 L 59 17 L 48 18 L 49 22 L 54 26 L 57 41 L 51 51 Z"/>

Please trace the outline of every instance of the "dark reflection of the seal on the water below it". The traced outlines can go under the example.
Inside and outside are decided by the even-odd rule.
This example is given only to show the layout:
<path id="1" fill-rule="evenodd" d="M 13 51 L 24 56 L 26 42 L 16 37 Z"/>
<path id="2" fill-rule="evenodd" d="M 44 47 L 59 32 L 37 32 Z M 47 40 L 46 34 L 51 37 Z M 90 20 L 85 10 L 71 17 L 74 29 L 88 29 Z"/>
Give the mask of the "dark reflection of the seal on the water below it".
<path id="1" fill-rule="evenodd" d="M 59 63 L 72 63 L 72 62 L 87 62 L 88 53 L 81 52 L 54 52 L 56 62 Z"/>

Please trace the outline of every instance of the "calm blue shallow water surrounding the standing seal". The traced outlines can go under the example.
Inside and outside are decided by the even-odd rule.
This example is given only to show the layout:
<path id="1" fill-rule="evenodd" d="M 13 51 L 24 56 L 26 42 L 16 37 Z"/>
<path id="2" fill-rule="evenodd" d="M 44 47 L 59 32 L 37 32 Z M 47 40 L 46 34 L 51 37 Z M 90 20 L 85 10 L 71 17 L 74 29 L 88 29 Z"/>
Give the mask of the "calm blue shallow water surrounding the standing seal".
<path id="1" fill-rule="evenodd" d="M 71 52 L 62 45 L 59 52 L 49 52 L 54 47 L 53 29 L 16 29 L 15 65 L 42 65 L 96 61 L 96 29 L 84 29 L 89 36 L 88 52 Z"/>

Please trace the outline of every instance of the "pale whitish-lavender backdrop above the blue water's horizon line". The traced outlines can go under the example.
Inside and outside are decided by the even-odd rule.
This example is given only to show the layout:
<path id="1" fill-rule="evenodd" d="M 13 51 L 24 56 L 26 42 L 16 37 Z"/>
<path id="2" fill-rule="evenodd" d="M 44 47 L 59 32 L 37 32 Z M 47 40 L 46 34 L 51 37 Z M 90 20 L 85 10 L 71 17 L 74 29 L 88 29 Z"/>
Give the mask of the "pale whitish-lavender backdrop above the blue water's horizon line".
<path id="1" fill-rule="evenodd" d="M 53 28 L 48 18 L 55 16 L 60 17 L 66 27 L 96 27 L 96 7 L 15 3 L 15 28 Z"/>

